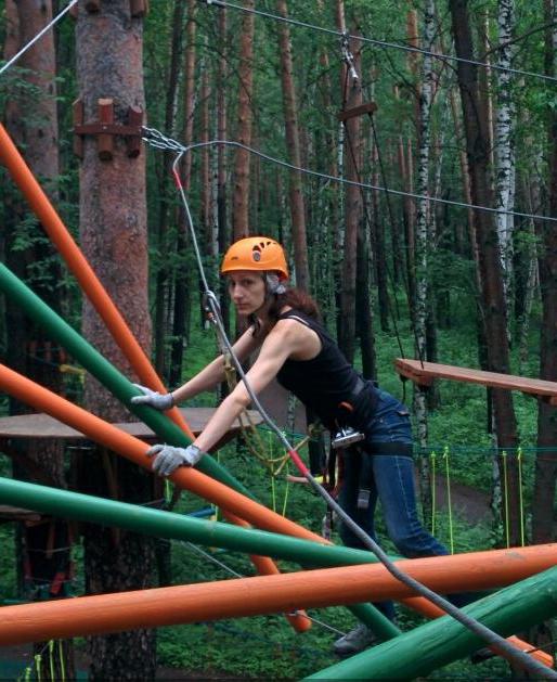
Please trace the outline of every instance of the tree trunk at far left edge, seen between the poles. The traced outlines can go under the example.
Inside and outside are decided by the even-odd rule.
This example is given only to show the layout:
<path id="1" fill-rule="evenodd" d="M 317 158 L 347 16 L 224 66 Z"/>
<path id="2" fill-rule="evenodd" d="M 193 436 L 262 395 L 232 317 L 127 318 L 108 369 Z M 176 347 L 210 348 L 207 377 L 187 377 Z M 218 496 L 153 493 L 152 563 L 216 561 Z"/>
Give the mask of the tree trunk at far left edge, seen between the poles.
<path id="1" fill-rule="evenodd" d="M 11 59 L 23 46 L 35 37 L 52 20 L 52 2 L 46 0 L 7 0 L 5 15 L 8 36 L 4 57 Z M 20 96 L 12 95 L 5 107 L 7 129 L 15 144 L 24 150 L 25 158 L 35 176 L 44 185 L 52 201 L 57 200 L 59 120 L 56 112 L 56 57 L 52 31 L 48 31 L 39 44 L 30 48 L 20 60 L 20 67 L 27 69 L 21 78 L 39 94 L 22 89 Z M 17 91 L 16 91 L 17 92 Z M 33 112 L 33 118 L 29 116 Z M 10 192 L 7 202 L 4 237 L 5 261 L 10 269 L 26 281 L 35 293 L 51 308 L 61 311 L 64 291 L 60 287 L 62 269 L 55 249 L 44 239 L 39 224 L 15 192 Z M 7 198 L 8 198 L 7 197 Z M 25 221 L 28 228 L 25 228 Z M 26 234 L 27 232 L 27 234 Z M 29 246 L 21 249 L 17 242 L 26 240 Z M 15 247 L 15 248 L 14 248 Z M 53 348 L 43 329 L 29 320 L 8 298 L 5 301 L 7 361 L 9 366 L 24 376 L 53 390 L 63 393 L 60 349 Z M 10 400 L 11 414 L 28 413 L 27 406 Z M 49 484 L 66 488 L 64 448 L 59 440 L 33 439 L 21 446 L 22 454 L 36 465 Z M 13 463 L 16 478 L 38 481 L 17 458 Z M 69 593 L 72 559 L 68 525 L 62 519 L 43 517 L 37 525 L 22 525 L 17 532 L 18 575 L 24 596 L 33 600 L 60 599 Z M 54 552 L 49 551 L 54 550 Z M 35 643 L 35 653 L 44 649 L 46 642 Z M 54 673 L 74 677 L 72 642 L 62 644 L 62 656 L 54 656 Z M 51 679 L 49 657 L 43 656 L 37 674 Z"/>

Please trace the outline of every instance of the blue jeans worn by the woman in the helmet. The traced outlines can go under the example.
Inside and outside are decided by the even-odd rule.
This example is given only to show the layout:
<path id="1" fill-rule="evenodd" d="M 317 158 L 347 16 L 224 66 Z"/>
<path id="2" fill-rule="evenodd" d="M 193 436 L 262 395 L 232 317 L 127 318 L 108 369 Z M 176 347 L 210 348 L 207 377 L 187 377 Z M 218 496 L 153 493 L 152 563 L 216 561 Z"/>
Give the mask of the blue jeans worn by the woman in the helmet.
<path id="1" fill-rule="evenodd" d="M 396 452 L 396 443 L 403 446 L 403 452 L 412 443 L 409 410 L 389 394 L 383 390 L 378 394 L 377 409 L 365 429 L 361 452 L 352 450 L 345 454 L 340 506 L 375 540 L 374 517 L 379 500 L 387 533 L 403 556 L 415 558 L 448 554 L 446 549 L 422 526 L 418 518 L 412 456 L 406 453 L 398 455 Z M 383 443 L 392 443 L 389 454 L 377 453 Z M 367 509 L 358 507 L 358 494 L 362 487 L 370 489 Z M 340 526 L 340 538 L 347 546 L 365 549 L 362 541 L 344 524 Z M 375 605 L 387 617 L 394 617 L 391 602 Z"/>

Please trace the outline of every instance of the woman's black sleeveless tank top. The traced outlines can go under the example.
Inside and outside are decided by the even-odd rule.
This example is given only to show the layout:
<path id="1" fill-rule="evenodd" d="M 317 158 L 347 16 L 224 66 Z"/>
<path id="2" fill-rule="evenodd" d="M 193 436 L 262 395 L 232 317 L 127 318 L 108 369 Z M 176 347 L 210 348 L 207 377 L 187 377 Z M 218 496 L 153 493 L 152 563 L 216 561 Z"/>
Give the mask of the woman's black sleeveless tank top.
<path id="1" fill-rule="evenodd" d="M 349 424 L 363 429 L 377 402 L 371 382 L 354 396 L 362 384 L 360 375 L 314 318 L 299 310 L 287 310 L 278 316 L 278 320 L 296 320 L 315 332 L 321 340 L 321 350 L 311 360 L 286 360 L 276 374 L 281 386 L 313 410 L 327 428 Z M 341 402 L 349 402 L 354 411 L 342 410 L 339 408 Z"/>

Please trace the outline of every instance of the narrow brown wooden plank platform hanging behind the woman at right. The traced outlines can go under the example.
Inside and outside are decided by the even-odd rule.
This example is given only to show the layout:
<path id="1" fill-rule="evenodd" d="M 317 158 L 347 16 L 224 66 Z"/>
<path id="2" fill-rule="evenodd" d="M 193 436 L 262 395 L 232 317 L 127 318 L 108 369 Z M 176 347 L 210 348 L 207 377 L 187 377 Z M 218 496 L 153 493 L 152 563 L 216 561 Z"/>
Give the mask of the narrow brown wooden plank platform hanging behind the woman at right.
<path id="1" fill-rule="evenodd" d="M 430 386 L 436 378 L 448 378 L 455 382 L 490 386 L 491 388 L 519 390 L 545 400 L 549 404 L 557 406 L 557 382 L 514 376 L 513 374 L 498 374 L 497 372 L 483 372 L 482 370 L 469 370 L 437 362 L 406 360 L 405 358 L 394 360 L 394 368 L 401 376 L 405 376 L 420 386 Z"/>

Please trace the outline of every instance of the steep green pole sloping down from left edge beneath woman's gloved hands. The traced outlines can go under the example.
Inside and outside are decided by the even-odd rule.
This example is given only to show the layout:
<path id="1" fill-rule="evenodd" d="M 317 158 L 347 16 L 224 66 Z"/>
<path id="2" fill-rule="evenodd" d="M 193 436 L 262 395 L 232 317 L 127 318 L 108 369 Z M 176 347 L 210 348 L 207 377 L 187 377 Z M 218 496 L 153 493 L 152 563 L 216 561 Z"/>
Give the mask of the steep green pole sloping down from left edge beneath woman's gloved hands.
<path id="1" fill-rule="evenodd" d="M 51 338 L 64 346 L 86 370 L 147 424 L 161 440 L 179 447 L 190 443 L 187 436 L 166 414 L 150 407 L 132 404 L 131 398 L 139 395 L 133 384 L 3 263 L 0 263 L 0 291 L 16 301 L 31 320 L 44 327 Z M 254 496 L 210 455 L 203 456 L 197 468 L 254 499 Z M 360 620 L 373 628 L 381 639 L 400 633 L 398 628 L 371 604 L 359 604 L 349 608 Z"/>

